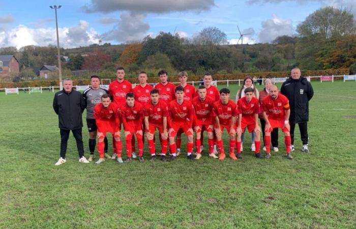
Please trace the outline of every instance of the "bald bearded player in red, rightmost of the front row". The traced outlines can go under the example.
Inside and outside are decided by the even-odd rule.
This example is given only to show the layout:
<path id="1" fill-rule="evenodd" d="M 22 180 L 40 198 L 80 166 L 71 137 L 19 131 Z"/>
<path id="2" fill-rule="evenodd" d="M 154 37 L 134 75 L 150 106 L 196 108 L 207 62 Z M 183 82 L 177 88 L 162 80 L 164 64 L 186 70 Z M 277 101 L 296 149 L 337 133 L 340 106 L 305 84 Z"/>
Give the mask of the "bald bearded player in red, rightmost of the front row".
<path id="1" fill-rule="evenodd" d="M 290 155 L 290 126 L 289 126 L 289 102 L 287 97 L 278 93 L 276 85 L 270 87 L 270 93 L 262 100 L 262 115 L 266 122 L 264 128 L 264 142 L 266 147 L 265 158 L 270 158 L 271 131 L 274 128 L 281 128 L 284 132 L 284 143 L 286 147 L 286 158 L 293 159 Z"/>

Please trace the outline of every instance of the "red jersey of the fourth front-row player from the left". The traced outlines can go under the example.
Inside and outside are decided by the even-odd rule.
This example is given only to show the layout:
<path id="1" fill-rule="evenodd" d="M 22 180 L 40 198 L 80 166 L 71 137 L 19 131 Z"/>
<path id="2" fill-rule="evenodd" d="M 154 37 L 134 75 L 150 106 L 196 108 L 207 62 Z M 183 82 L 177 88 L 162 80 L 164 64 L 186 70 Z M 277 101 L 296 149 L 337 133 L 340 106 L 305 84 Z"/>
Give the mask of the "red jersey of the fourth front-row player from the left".
<path id="1" fill-rule="evenodd" d="M 168 104 L 169 118 L 168 123 L 187 123 L 189 128 L 192 127 L 194 108 L 190 101 L 183 100 L 182 104 L 177 103 L 177 101 L 170 101 Z"/>

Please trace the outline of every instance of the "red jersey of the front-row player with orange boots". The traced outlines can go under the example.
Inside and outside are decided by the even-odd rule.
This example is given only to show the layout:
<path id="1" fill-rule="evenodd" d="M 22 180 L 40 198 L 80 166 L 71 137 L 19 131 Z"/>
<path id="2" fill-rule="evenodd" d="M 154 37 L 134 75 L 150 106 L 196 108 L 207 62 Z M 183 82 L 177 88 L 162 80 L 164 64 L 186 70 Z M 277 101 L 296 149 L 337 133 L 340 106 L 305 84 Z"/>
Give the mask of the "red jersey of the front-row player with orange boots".
<path id="1" fill-rule="evenodd" d="M 231 99 L 224 105 L 221 101 L 217 101 L 213 106 L 213 117 L 219 117 L 220 125 L 231 125 L 231 117 L 238 116 L 238 109 L 236 109 L 236 103 Z"/>

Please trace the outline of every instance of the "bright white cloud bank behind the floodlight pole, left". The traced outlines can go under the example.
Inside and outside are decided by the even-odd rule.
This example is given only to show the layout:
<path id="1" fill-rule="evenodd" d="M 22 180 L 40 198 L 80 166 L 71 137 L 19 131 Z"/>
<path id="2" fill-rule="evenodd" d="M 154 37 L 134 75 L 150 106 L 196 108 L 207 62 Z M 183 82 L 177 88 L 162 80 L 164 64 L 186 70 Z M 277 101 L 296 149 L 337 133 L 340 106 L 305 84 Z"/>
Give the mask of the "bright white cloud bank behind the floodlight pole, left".
<path id="1" fill-rule="evenodd" d="M 89 23 L 81 20 L 73 27 L 58 28 L 60 46 L 72 48 L 98 43 L 98 33 L 94 28 L 88 28 Z M 15 46 L 21 48 L 26 45 L 56 45 L 55 28 L 29 28 L 18 25 L 10 30 L 0 32 L 0 47 Z"/>

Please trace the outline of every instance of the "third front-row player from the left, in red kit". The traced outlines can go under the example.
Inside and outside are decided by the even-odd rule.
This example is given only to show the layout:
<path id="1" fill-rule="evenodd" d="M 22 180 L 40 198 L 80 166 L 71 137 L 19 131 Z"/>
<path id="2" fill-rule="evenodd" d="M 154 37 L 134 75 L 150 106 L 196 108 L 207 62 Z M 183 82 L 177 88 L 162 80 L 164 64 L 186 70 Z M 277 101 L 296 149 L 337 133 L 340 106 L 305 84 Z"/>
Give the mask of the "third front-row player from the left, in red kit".
<path id="1" fill-rule="evenodd" d="M 154 142 L 155 130 L 158 129 L 162 138 L 162 160 L 167 161 L 166 152 L 168 146 L 168 132 L 167 132 L 167 116 L 168 106 L 165 102 L 159 100 L 159 91 L 157 89 L 151 90 L 151 101 L 147 102 L 143 108 L 145 135 L 149 145 L 151 160 L 156 158 L 156 145 Z"/>

